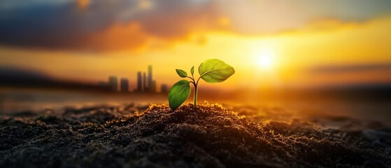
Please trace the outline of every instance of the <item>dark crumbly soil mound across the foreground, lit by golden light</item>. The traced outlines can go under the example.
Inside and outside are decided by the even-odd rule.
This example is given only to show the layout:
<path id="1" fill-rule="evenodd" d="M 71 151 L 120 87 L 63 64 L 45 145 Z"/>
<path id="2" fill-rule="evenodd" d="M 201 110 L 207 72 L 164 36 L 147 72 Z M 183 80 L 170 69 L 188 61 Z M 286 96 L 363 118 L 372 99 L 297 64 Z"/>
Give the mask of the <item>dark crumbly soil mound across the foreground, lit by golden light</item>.
<path id="1" fill-rule="evenodd" d="M 219 104 L 15 113 L 0 117 L 0 167 L 391 167 L 389 127 L 324 120 L 351 122 Z"/>

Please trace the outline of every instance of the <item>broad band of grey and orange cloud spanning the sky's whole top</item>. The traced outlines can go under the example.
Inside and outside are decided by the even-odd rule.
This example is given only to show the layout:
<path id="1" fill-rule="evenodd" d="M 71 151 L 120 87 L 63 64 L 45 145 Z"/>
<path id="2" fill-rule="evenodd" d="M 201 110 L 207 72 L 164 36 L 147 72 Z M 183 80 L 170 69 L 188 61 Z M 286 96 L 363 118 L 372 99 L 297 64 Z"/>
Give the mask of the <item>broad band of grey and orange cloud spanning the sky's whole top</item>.
<path id="1" fill-rule="evenodd" d="M 0 44 L 100 51 L 136 50 L 155 46 L 153 43 L 167 45 L 186 40 L 192 33 L 208 31 L 274 34 L 299 29 L 334 29 L 385 15 L 390 12 L 387 7 L 391 7 L 390 1 L 383 0 L 376 0 L 377 3 L 362 0 L 355 3 L 334 0 L 22 2 L 0 1 L 0 6 L 12 8 L 0 8 Z M 202 43 L 207 41 L 199 39 Z"/>

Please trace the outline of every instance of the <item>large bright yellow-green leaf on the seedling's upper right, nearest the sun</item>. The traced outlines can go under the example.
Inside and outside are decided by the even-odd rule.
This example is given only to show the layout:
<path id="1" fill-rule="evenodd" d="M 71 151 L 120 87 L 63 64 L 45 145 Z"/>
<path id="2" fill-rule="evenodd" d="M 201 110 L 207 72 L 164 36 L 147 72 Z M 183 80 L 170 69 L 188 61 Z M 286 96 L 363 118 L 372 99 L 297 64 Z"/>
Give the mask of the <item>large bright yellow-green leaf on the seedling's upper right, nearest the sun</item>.
<path id="1" fill-rule="evenodd" d="M 232 76 L 235 70 L 220 59 L 207 59 L 199 65 L 198 72 L 207 83 L 220 83 Z"/>

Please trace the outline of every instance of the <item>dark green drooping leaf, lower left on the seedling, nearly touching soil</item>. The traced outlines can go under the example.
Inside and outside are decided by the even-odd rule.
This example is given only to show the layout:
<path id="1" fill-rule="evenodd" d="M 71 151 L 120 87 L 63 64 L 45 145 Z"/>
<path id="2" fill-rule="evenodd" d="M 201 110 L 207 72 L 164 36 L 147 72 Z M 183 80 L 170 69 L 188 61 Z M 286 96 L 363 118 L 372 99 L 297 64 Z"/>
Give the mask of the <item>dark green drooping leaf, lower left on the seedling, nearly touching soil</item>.
<path id="1" fill-rule="evenodd" d="M 190 82 L 187 80 L 179 80 L 173 84 L 169 91 L 169 104 L 172 110 L 177 109 L 180 104 L 186 101 L 190 95 Z"/>

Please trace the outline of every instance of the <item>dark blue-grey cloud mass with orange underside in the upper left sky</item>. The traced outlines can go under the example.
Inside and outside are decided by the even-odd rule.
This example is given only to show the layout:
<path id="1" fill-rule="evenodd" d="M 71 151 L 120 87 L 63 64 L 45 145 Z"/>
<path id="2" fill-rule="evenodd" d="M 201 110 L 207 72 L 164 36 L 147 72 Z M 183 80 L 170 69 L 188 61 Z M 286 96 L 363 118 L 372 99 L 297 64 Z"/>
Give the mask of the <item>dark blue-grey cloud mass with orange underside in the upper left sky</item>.
<path id="1" fill-rule="evenodd" d="M 82 9 L 82 10 L 80 10 Z M 4 13 L 4 11 L 3 11 Z M 1 15 L 1 11 L 0 11 Z M 85 1 L 24 8 L 0 18 L 0 44 L 65 50 L 133 50 L 171 43 L 215 25 L 207 3 Z M 205 41 L 205 40 L 203 40 Z"/>

